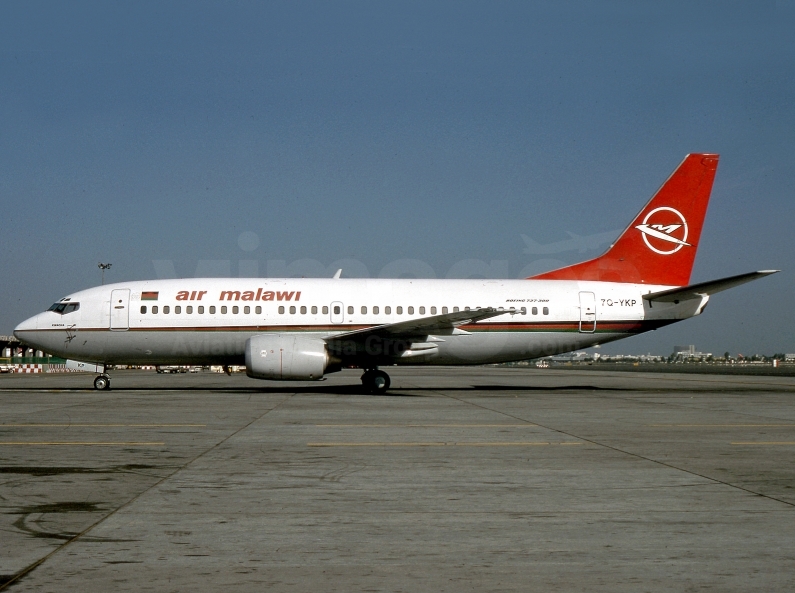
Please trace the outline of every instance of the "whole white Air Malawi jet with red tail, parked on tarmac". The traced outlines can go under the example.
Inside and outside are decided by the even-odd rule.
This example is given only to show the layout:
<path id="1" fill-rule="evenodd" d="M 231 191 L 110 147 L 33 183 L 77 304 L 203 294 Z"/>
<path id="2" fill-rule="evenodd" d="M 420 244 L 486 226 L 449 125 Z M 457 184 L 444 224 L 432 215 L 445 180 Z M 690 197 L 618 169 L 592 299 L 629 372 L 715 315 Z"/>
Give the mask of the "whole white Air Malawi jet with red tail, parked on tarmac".
<path id="1" fill-rule="evenodd" d="M 689 154 L 607 251 L 517 280 L 195 278 L 70 294 L 14 335 L 110 365 L 245 365 L 255 379 L 316 381 L 342 368 L 390 387 L 382 367 L 527 360 L 700 315 L 713 294 L 773 274 L 690 284 L 718 166 Z"/>

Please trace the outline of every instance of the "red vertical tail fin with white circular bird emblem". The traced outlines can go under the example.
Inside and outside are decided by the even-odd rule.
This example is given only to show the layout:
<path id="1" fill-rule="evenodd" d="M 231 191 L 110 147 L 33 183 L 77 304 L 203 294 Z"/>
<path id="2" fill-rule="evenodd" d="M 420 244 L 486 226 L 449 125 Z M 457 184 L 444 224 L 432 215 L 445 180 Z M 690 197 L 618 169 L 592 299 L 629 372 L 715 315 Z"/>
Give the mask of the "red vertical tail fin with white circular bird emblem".
<path id="1" fill-rule="evenodd" d="M 717 168 L 717 154 L 687 155 L 604 255 L 532 278 L 686 286 Z"/>

